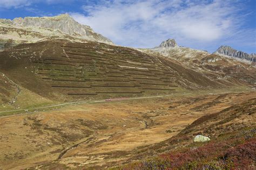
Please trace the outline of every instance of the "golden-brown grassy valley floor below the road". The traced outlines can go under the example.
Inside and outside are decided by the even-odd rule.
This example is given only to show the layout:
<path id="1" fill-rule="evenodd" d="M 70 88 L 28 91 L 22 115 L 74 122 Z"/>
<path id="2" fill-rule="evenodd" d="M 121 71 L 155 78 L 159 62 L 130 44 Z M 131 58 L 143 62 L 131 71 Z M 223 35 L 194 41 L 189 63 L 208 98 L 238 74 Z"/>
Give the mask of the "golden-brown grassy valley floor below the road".
<path id="1" fill-rule="evenodd" d="M 164 152 L 164 145 L 159 151 L 161 143 L 200 117 L 217 114 L 253 98 L 256 98 L 255 91 L 193 93 L 87 103 L 0 117 L 0 168 L 122 166 Z M 255 112 L 250 119 L 246 118 L 245 126 L 253 125 Z M 200 133 L 215 137 L 219 132 Z M 147 151 L 154 146 L 158 146 L 157 151 Z"/>

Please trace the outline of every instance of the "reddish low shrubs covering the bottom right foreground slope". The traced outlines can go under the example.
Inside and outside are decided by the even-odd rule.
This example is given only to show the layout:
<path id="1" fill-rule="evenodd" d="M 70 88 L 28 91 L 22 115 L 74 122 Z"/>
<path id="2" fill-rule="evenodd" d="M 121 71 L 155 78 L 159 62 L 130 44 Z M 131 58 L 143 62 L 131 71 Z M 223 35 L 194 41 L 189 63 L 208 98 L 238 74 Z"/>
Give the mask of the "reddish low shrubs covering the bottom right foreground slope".
<path id="1" fill-rule="evenodd" d="M 247 138 L 248 133 L 229 133 L 207 143 L 192 143 L 122 169 L 253 169 L 256 164 L 256 137 L 252 130 L 247 131 L 250 138 Z"/>

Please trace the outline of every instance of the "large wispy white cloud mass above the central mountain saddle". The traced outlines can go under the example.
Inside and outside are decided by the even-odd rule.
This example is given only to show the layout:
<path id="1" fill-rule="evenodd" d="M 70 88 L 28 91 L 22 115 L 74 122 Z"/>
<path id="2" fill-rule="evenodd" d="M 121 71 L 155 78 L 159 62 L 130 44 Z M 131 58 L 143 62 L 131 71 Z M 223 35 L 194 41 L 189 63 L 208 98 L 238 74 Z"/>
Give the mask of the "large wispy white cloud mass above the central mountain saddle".
<path id="1" fill-rule="evenodd" d="M 85 14 L 70 14 L 119 45 L 153 47 L 175 38 L 181 45 L 194 47 L 195 43 L 214 44 L 241 29 L 242 6 L 236 4 L 229 0 L 115 0 L 90 3 L 83 6 Z"/>

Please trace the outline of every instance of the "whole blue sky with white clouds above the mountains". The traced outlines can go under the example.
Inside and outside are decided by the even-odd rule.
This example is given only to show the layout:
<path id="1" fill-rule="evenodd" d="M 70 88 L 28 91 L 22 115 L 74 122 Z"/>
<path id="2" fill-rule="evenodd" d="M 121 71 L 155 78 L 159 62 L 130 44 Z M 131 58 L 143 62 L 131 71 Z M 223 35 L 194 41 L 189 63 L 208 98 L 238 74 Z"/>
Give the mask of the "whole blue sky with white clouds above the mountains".
<path id="1" fill-rule="evenodd" d="M 0 0 L 0 18 L 69 13 L 114 44 L 179 46 L 214 52 L 228 45 L 256 53 L 256 0 Z"/>

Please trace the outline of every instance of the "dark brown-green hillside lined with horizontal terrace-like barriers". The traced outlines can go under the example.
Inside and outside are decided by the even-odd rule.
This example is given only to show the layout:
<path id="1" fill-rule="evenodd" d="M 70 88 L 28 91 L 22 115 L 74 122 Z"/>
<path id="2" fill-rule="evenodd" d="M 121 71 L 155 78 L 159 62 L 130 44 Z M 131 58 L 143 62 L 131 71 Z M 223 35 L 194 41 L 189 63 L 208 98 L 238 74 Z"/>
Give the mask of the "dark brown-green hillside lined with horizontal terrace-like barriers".
<path id="1" fill-rule="evenodd" d="M 0 58 L 0 71 L 14 82 L 59 101 L 172 94 L 187 84 L 220 86 L 172 60 L 98 42 L 23 44 Z"/>

